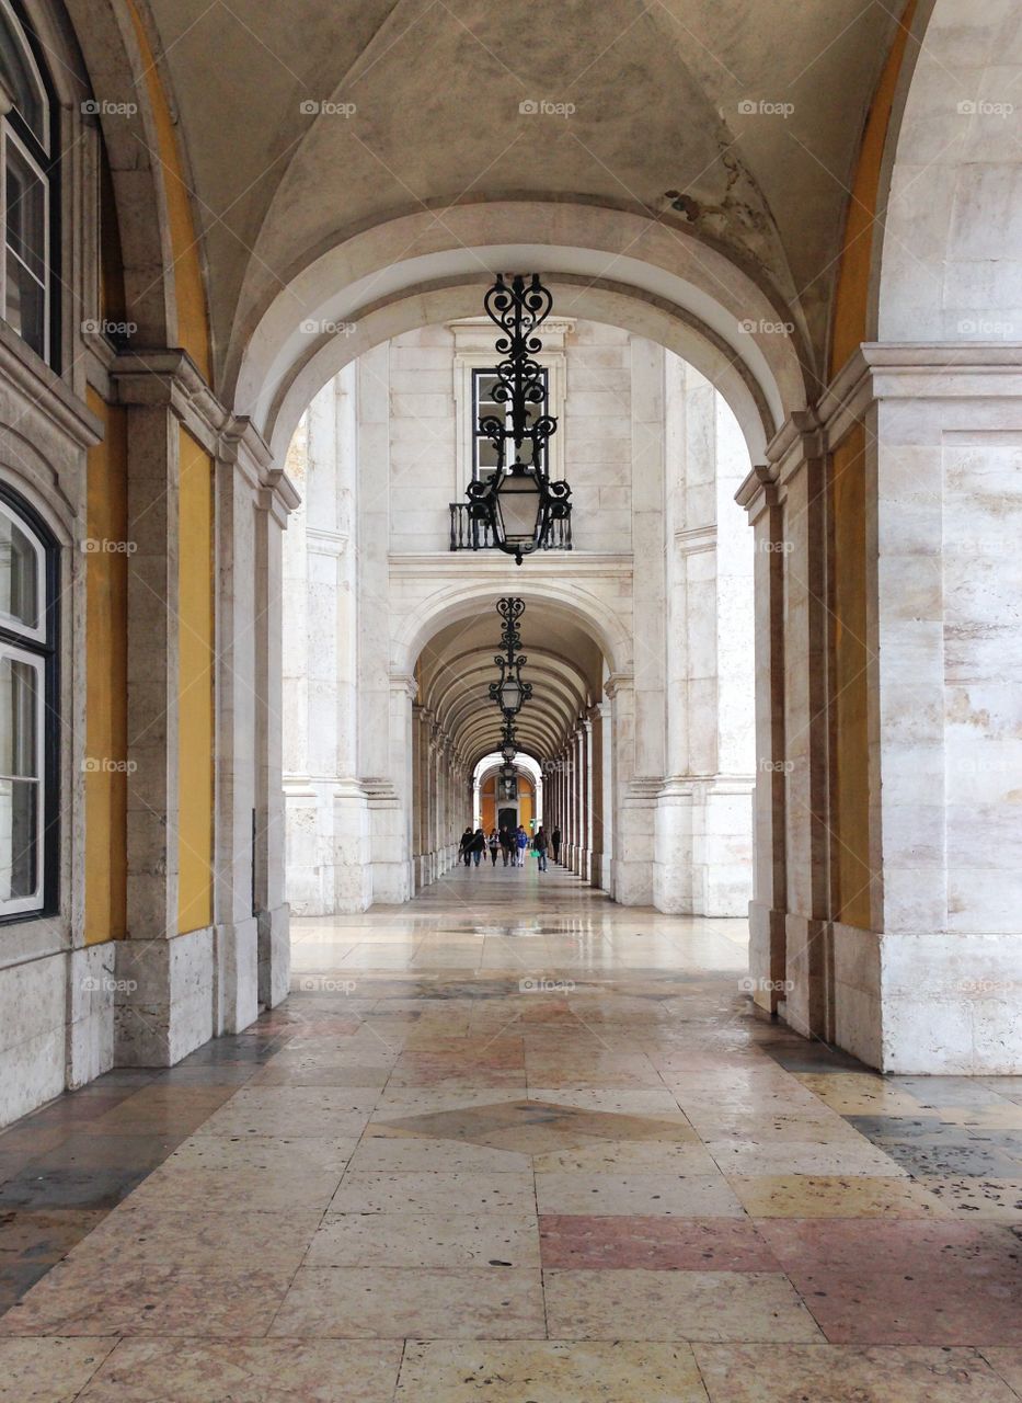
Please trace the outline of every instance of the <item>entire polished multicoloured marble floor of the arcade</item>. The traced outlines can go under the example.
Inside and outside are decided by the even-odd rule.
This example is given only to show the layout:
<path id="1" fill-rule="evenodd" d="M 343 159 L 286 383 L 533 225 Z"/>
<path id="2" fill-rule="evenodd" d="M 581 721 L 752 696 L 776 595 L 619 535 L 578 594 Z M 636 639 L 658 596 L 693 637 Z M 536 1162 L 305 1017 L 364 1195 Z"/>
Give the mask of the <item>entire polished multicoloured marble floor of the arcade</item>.
<path id="1" fill-rule="evenodd" d="M 1 1403 L 1009 1403 L 1022 1078 L 751 1016 L 740 922 L 458 868 L 0 1135 Z"/>

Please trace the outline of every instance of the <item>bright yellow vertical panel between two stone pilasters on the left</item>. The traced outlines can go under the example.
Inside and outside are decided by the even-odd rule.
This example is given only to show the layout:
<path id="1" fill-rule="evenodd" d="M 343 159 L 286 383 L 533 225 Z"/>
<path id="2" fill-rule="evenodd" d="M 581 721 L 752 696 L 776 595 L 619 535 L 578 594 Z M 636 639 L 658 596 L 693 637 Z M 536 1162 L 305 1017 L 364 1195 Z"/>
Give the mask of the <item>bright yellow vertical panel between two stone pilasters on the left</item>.
<path id="1" fill-rule="evenodd" d="M 185 429 L 178 487 L 178 932 L 213 920 L 213 459 Z"/>

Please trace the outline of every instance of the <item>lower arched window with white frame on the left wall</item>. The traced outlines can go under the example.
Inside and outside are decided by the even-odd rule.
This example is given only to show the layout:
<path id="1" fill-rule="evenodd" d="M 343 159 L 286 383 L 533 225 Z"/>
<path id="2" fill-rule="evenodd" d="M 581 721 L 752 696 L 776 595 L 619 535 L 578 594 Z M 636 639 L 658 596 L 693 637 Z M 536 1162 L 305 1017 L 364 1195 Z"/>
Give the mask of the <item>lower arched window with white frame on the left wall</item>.
<path id="1" fill-rule="evenodd" d="M 57 551 L 0 484 L 0 920 L 56 906 Z"/>

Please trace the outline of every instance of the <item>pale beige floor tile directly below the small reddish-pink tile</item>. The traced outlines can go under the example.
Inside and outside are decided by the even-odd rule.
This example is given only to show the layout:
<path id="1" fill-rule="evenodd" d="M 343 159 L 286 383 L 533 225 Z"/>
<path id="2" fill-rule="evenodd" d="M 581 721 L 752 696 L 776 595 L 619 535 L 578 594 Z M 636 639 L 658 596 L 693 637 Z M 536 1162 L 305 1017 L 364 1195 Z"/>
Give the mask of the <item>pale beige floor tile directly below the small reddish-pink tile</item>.
<path id="1" fill-rule="evenodd" d="M 558 1340 L 820 1340 L 781 1273 L 544 1271 Z"/>

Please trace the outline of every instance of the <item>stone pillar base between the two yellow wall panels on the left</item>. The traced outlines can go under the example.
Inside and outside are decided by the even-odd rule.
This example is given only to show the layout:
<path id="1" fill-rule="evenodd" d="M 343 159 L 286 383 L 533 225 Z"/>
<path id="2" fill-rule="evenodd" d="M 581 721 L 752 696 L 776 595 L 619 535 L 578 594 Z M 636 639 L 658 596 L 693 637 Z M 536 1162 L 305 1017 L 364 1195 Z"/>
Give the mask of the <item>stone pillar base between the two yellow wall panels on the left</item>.
<path id="1" fill-rule="evenodd" d="M 118 1066 L 174 1066 L 213 1037 L 214 967 L 212 926 L 164 940 L 118 941 Z"/>

